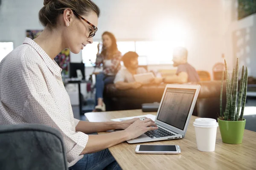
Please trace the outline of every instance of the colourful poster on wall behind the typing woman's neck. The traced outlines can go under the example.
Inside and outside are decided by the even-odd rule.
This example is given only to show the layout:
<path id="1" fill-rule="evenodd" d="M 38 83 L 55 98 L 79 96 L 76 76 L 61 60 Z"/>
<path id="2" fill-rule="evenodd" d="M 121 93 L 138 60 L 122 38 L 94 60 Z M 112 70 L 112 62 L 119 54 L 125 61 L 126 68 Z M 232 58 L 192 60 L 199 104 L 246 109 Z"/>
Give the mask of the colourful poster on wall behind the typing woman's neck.
<path id="1" fill-rule="evenodd" d="M 26 30 L 26 37 L 31 38 L 32 40 L 38 37 L 39 34 L 41 34 L 43 30 Z M 55 62 L 62 68 L 62 72 L 64 74 L 68 74 L 68 65 L 70 62 L 70 50 L 64 49 L 61 51 L 55 58 Z"/>

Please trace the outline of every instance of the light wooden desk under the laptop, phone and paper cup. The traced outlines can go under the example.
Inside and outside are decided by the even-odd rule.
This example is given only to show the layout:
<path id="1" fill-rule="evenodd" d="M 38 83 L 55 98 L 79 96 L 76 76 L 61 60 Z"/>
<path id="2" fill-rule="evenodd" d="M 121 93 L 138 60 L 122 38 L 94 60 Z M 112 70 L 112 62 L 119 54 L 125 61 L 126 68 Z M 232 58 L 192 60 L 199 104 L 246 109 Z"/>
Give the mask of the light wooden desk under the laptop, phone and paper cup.
<path id="1" fill-rule="evenodd" d="M 141 110 L 85 113 L 90 122 L 109 121 L 114 118 L 139 116 Z M 156 113 L 151 113 L 156 114 Z M 177 155 L 137 154 L 137 144 L 122 142 L 109 150 L 123 170 L 255 170 L 256 132 L 244 131 L 242 144 L 225 144 L 217 130 L 214 152 L 201 152 L 197 149 L 192 116 L 185 138 L 139 144 L 177 144 L 181 153 Z M 109 132 L 101 132 L 109 133 Z M 101 134 L 100 133 L 100 134 Z"/>

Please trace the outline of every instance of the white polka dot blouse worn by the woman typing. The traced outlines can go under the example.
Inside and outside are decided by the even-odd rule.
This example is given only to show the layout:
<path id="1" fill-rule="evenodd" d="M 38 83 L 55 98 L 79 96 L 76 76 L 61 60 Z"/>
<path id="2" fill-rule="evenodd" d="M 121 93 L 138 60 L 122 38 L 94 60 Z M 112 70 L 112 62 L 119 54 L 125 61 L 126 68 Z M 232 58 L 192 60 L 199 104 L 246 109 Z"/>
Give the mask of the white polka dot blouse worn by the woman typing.
<path id="1" fill-rule="evenodd" d="M 43 124 L 64 138 L 68 166 L 83 155 L 88 135 L 76 132 L 62 69 L 33 40 L 26 38 L 0 63 L 0 125 Z"/>

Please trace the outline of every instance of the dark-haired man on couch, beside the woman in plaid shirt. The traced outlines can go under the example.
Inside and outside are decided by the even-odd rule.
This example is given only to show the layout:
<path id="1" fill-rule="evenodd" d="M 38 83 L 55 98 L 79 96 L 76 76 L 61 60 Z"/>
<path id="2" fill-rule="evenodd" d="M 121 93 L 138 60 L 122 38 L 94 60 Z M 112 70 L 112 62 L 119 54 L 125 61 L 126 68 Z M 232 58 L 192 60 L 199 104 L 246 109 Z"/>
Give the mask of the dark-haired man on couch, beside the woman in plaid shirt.
<path id="1" fill-rule="evenodd" d="M 125 69 L 121 69 L 116 74 L 114 84 L 119 90 L 136 89 L 140 88 L 143 84 L 135 82 L 135 74 L 147 73 L 146 69 L 139 67 L 138 65 L 139 55 L 136 52 L 129 51 L 122 57 L 122 61 L 125 65 Z M 162 78 L 154 78 L 151 83 L 159 84 L 162 82 Z"/>

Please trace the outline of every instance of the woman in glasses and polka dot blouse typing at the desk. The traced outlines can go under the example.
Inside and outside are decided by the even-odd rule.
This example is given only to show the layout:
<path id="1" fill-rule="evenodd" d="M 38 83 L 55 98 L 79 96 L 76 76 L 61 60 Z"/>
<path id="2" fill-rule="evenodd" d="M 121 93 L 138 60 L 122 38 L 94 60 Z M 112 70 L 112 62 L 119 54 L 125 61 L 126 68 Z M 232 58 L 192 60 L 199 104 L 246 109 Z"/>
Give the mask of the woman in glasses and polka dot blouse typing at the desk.
<path id="1" fill-rule="evenodd" d="M 151 119 L 74 119 L 61 68 L 53 59 L 65 48 L 77 54 L 92 43 L 99 14 L 91 0 L 44 0 L 39 11 L 44 31 L 34 40 L 26 38 L 0 62 L 0 125 L 32 123 L 56 128 L 64 138 L 70 170 L 120 169 L 107 148 L 157 129 Z M 111 129 L 124 130 L 87 135 Z"/>

